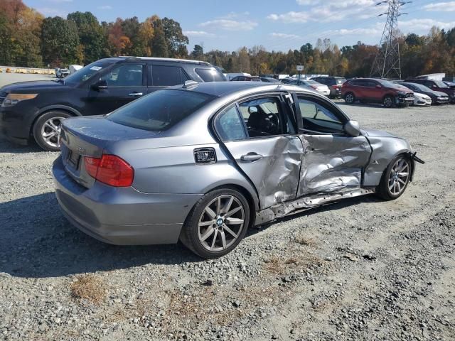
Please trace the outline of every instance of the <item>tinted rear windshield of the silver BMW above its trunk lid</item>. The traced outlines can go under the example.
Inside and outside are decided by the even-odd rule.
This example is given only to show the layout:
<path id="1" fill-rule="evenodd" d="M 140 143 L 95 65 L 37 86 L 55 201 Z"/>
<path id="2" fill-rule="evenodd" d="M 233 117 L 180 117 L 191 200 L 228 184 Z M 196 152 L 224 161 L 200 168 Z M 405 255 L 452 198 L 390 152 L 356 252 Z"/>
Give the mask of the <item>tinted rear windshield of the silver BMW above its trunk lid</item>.
<path id="1" fill-rule="evenodd" d="M 109 121 L 149 131 L 164 131 L 215 97 L 183 90 L 153 92 L 107 115 Z"/>

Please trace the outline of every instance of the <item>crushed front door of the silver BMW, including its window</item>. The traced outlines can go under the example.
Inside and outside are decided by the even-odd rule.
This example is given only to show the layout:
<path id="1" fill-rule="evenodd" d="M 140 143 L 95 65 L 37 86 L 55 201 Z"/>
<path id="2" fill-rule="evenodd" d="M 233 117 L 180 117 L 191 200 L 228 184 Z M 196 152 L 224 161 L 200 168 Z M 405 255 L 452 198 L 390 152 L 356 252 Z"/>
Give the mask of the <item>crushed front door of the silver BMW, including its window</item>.
<path id="1" fill-rule="evenodd" d="M 350 136 L 349 118 L 328 100 L 310 94 L 293 100 L 304 146 L 297 196 L 360 188 L 371 155 L 365 136 Z"/>

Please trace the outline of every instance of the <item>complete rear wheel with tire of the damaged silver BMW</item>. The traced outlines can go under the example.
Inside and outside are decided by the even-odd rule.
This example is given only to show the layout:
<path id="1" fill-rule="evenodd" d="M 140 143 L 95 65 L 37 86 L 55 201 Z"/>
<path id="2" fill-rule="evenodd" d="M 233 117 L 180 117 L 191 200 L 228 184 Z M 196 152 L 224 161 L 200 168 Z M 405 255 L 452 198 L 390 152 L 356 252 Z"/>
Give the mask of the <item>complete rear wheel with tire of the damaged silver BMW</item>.
<path id="1" fill-rule="evenodd" d="M 235 249 L 247 232 L 250 207 L 237 190 L 222 188 L 198 200 L 181 232 L 181 242 L 198 256 L 218 258 Z"/>

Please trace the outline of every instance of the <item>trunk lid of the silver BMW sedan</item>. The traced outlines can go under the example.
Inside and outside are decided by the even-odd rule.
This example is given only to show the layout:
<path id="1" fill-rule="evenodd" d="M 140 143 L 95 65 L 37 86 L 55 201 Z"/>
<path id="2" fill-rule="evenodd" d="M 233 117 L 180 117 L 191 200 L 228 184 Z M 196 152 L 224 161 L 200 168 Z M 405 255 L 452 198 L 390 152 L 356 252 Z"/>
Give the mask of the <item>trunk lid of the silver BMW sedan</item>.
<path id="1" fill-rule="evenodd" d="M 87 173 L 84 158 L 101 158 L 105 146 L 116 141 L 145 139 L 156 135 L 153 131 L 123 126 L 104 117 L 65 119 L 62 124 L 60 149 L 65 171 L 77 183 L 90 188 L 95 178 Z"/>

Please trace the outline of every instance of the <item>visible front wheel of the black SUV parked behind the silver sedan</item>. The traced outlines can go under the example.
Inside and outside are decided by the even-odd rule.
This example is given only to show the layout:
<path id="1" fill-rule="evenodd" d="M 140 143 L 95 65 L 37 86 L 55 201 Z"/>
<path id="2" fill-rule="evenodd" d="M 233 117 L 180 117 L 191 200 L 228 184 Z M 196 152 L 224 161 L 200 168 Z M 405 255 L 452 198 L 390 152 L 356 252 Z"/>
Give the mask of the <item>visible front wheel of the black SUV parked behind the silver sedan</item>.
<path id="1" fill-rule="evenodd" d="M 57 122 L 63 121 L 63 119 L 67 119 L 71 117 L 68 112 L 62 112 L 59 110 L 55 110 L 52 112 L 46 112 L 42 114 L 33 124 L 33 137 L 35 138 L 36 144 L 43 148 L 45 151 L 60 151 L 60 146 L 58 145 L 58 139 L 60 137 L 60 130 L 53 129 L 50 125 L 46 124 L 49 121 L 53 122 L 53 125 L 58 128 Z M 45 139 L 43 134 L 55 134 L 50 136 L 50 138 Z"/>

